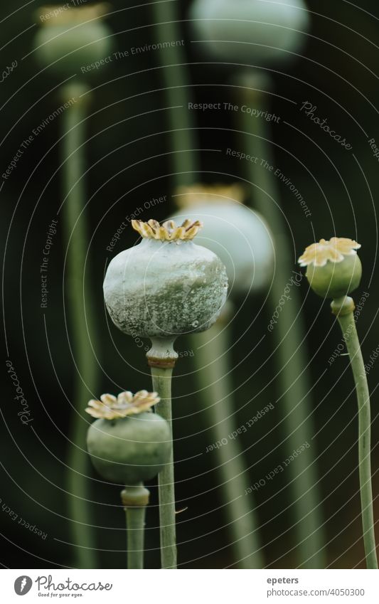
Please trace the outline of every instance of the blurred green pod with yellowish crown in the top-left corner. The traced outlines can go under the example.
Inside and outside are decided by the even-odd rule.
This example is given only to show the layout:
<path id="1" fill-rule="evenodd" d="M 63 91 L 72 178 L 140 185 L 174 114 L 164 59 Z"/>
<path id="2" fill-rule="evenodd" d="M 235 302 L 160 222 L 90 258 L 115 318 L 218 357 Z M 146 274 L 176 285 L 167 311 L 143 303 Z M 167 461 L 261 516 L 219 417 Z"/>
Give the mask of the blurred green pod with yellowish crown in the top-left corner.
<path id="1" fill-rule="evenodd" d="M 53 66 L 65 77 L 79 72 L 93 75 L 97 63 L 105 65 L 112 51 L 112 31 L 102 21 L 109 4 L 41 6 L 36 13 L 41 27 L 35 38 L 41 67 Z M 102 63 L 100 63 L 102 61 Z"/>

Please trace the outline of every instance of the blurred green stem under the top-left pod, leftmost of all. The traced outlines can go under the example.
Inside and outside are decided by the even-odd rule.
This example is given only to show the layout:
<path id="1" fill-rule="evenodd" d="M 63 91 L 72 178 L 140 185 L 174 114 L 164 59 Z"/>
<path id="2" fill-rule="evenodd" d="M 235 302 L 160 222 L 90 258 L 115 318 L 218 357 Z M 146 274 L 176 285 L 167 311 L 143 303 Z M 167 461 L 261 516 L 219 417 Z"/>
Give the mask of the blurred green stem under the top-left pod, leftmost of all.
<path id="1" fill-rule="evenodd" d="M 69 428 L 70 449 L 68 452 L 67 477 L 68 511 L 71 522 L 72 540 L 77 546 L 78 568 L 98 568 L 95 556 L 95 541 L 90 524 L 91 513 L 87 476 L 90 462 L 86 452 L 85 438 L 87 421 L 82 417 L 85 402 L 96 391 L 97 361 L 91 349 L 90 338 L 94 338 L 95 321 L 92 316 L 90 285 L 85 282 L 85 255 L 88 235 L 82 209 L 85 204 L 85 190 L 82 174 L 85 157 L 82 143 L 85 141 L 86 116 L 85 101 L 80 95 L 87 88 L 74 84 L 62 90 L 64 100 L 75 97 L 75 104 L 63 114 L 63 223 L 67 251 L 66 292 L 70 315 L 70 339 L 73 340 L 75 354 L 75 382 L 73 392 L 73 414 Z M 85 299 L 84 299 L 85 296 Z"/>

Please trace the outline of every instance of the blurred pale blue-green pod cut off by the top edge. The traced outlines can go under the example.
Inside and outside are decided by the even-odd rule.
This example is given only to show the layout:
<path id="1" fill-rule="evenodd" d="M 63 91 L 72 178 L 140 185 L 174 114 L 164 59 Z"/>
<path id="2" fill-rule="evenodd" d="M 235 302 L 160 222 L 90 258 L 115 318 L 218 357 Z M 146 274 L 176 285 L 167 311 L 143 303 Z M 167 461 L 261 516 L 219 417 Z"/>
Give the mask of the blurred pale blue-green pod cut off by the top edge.
<path id="1" fill-rule="evenodd" d="M 189 16 L 210 55 L 256 65 L 291 59 L 309 28 L 302 0 L 195 0 Z"/>

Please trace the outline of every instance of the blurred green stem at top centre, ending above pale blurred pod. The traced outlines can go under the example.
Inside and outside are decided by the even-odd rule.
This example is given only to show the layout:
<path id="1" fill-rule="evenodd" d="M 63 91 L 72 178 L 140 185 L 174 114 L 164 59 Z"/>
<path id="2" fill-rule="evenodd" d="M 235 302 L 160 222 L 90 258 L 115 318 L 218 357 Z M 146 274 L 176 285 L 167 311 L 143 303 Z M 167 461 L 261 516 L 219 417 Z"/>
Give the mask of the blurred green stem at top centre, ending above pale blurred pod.
<path id="1" fill-rule="evenodd" d="M 156 23 L 156 42 L 181 41 L 179 2 L 153 2 L 151 11 Z M 197 137 L 192 114 L 188 110 L 191 85 L 183 46 L 170 46 L 157 51 L 161 79 L 165 85 L 169 128 L 171 130 L 171 164 L 174 186 L 189 185 L 198 178 Z"/>

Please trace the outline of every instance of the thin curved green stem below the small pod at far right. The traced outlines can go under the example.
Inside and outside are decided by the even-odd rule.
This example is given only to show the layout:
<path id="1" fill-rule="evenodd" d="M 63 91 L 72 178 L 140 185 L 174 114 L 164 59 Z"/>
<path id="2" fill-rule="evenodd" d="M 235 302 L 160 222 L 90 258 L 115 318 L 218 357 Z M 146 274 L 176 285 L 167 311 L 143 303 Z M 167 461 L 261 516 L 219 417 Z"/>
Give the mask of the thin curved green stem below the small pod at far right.
<path id="1" fill-rule="evenodd" d="M 333 313 L 338 317 L 353 370 L 358 398 L 358 465 L 361 486 L 363 542 L 367 568 L 378 568 L 373 514 L 373 488 L 371 484 L 371 418 L 370 393 L 361 346 L 359 344 L 352 298 L 333 300 Z"/>

